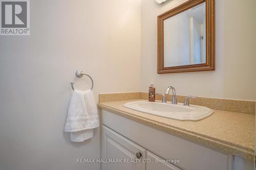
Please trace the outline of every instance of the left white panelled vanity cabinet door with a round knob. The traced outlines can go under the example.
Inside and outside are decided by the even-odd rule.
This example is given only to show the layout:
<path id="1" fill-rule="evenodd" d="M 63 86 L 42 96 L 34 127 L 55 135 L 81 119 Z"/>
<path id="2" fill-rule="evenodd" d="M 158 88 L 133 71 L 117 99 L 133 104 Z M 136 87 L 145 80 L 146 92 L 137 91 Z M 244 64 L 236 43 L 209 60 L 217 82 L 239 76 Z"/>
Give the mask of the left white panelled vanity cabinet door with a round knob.
<path id="1" fill-rule="evenodd" d="M 146 150 L 138 144 L 105 126 L 102 129 L 101 144 L 101 159 L 121 161 L 121 163 L 102 163 L 102 170 L 145 170 L 146 164 L 142 159 L 145 159 Z"/>

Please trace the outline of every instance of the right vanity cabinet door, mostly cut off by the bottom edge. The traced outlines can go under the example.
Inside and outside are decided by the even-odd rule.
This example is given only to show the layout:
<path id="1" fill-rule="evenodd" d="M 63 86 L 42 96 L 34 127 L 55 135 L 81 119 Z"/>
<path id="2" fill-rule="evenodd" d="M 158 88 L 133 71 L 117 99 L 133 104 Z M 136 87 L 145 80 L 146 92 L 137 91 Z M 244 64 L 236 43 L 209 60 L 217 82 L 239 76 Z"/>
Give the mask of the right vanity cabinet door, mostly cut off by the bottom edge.
<path id="1" fill-rule="evenodd" d="M 146 151 L 146 159 L 150 160 L 150 163 L 146 163 L 146 170 L 182 170 L 172 163 L 156 163 L 156 159 L 164 160 L 159 156 L 151 153 L 150 151 Z M 149 162 L 149 161 L 148 161 Z"/>

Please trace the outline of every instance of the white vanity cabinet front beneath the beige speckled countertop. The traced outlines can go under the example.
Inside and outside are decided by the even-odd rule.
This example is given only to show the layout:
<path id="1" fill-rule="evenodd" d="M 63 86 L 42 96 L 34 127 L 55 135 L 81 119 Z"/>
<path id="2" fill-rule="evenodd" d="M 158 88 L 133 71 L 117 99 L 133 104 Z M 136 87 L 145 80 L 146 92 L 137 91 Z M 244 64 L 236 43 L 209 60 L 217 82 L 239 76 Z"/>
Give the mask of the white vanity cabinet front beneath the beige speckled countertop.
<path id="1" fill-rule="evenodd" d="M 102 159 L 179 160 L 171 163 L 102 163 L 103 170 L 231 170 L 232 155 L 227 155 L 188 140 L 142 125 L 102 110 Z"/>

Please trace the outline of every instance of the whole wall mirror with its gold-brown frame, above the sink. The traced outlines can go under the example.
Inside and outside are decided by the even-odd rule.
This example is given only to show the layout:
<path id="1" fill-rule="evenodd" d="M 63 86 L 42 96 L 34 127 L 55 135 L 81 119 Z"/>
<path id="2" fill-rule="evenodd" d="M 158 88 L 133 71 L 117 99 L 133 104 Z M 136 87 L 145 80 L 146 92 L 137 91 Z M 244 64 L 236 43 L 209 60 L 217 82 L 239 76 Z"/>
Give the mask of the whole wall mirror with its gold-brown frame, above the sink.
<path id="1" fill-rule="evenodd" d="M 158 74 L 215 70 L 214 0 L 190 0 L 158 16 Z"/>

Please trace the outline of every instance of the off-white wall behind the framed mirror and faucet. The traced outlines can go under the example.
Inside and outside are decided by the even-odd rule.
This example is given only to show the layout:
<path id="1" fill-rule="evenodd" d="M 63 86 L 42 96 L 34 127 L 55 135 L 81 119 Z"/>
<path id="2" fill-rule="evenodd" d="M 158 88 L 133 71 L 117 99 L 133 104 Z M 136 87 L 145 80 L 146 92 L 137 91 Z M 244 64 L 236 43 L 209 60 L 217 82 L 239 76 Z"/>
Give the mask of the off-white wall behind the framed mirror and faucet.
<path id="1" fill-rule="evenodd" d="M 186 0 L 141 1 L 141 84 L 157 92 L 169 85 L 177 94 L 255 100 L 256 1 L 216 0 L 216 71 L 157 74 L 157 16 Z"/>

